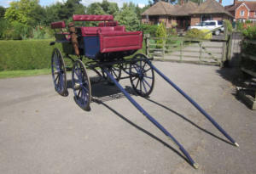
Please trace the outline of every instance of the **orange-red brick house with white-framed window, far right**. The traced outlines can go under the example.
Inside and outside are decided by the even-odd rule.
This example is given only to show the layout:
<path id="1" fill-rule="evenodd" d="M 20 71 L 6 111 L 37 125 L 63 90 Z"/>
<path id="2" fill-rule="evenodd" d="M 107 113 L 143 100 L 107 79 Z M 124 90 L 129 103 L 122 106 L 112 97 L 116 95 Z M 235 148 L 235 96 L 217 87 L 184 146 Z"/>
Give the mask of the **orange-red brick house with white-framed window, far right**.
<path id="1" fill-rule="evenodd" d="M 232 5 L 225 6 L 224 8 L 235 16 L 235 20 L 242 22 L 252 20 L 256 22 L 256 1 L 234 0 Z"/>

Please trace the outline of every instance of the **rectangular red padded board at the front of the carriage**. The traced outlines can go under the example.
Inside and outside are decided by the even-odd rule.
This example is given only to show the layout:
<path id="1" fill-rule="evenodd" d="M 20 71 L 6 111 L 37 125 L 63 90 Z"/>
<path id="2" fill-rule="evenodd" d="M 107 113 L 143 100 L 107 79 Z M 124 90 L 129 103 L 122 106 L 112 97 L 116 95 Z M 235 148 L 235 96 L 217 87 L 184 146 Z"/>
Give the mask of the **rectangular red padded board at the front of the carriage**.
<path id="1" fill-rule="evenodd" d="M 101 53 L 137 50 L 143 48 L 143 32 L 100 33 Z"/>

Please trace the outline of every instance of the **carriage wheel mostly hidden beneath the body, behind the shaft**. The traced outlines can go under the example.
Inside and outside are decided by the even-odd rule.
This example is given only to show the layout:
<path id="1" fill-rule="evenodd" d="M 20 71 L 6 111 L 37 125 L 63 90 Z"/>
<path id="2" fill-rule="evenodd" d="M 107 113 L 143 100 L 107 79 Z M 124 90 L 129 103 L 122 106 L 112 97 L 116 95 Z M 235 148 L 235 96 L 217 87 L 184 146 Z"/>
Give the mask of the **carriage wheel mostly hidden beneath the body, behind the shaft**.
<path id="1" fill-rule="evenodd" d="M 121 65 L 118 66 L 108 66 L 106 67 L 106 69 L 108 70 L 108 72 L 115 78 L 116 81 L 120 80 L 121 77 Z M 108 77 L 108 75 L 102 70 L 102 76 L 104 77 L 105 80 L 108 81 L 109 84 L 113 85 L 113 81 L 111 81 L 111 79 Z"/>

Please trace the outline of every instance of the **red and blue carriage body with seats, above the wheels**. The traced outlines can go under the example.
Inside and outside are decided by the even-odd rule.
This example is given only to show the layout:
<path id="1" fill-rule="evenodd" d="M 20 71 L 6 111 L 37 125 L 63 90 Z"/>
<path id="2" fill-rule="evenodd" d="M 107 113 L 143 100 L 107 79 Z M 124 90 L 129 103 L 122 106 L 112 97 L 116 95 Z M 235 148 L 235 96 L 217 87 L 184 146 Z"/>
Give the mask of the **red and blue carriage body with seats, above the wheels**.
<path id="1" fill-rule="evenodd" d="M 120 58 L 143 48 L 143 32 L 125 31 L 112 15 L 73 15 L 73 21 L 104 21 L 97 27 L 75 27 L 79 55 L 88 59 Z M 63 21 L 51 24 L 52 29 L 65 27 Z M 75 54 L 70 33 L 56 33 L 55 42 L 62 43 L 64 53 Z"/>

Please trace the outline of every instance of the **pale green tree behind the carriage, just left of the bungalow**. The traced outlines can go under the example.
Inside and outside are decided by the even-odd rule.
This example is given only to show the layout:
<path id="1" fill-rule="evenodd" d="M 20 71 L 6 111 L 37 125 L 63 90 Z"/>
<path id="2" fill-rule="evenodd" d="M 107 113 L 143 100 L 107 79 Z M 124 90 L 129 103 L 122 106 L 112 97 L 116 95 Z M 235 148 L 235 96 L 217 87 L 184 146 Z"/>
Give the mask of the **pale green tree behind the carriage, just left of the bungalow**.
<path id="1" fill-rule="evenodd" d="M 125 25 L 127 31 L 136 31 L 140 24 L 137 14 L 128 3 L 123 4 L 123 8 L 121 8 L 121 11 L 115 16 L 114 20 L 118 20 L 121 25 Z"/>

